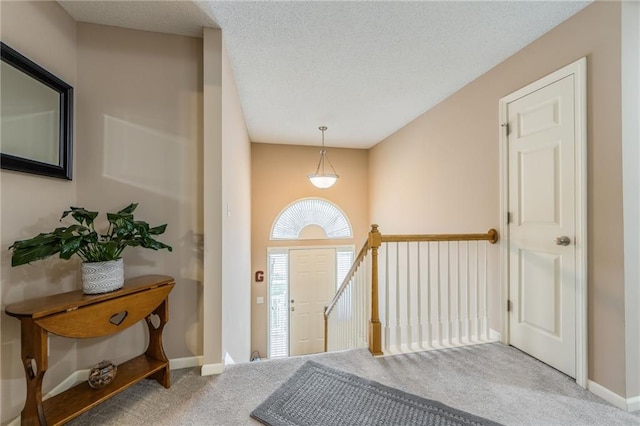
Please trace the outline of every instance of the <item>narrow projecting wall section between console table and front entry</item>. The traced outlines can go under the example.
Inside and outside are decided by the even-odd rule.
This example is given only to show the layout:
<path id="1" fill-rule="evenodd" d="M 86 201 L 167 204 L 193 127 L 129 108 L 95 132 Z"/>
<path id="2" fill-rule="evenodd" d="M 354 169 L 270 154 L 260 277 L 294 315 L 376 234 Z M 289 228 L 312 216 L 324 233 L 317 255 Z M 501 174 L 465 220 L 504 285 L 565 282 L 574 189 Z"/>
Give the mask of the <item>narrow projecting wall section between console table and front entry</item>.
<path id="1" fill-rule="evenodd" d="M 251 154 L 222 32 L 204 29 L 203 374 L 250 355 Z"/>

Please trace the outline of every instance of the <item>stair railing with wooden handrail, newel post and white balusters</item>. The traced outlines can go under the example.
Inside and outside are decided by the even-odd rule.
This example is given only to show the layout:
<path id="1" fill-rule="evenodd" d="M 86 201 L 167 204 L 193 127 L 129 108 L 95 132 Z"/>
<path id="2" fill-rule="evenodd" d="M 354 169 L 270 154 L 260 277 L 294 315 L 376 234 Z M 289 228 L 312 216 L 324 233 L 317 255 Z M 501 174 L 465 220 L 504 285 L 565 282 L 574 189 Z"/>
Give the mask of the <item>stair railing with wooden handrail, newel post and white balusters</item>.
<path id="1" fill-rule="evenodd" d="M 497 240 L 495 229 L 382 235 L 372 225 L 325 308 L 325 351 L 382 355 L 490 341 L 487 243 Z"/>

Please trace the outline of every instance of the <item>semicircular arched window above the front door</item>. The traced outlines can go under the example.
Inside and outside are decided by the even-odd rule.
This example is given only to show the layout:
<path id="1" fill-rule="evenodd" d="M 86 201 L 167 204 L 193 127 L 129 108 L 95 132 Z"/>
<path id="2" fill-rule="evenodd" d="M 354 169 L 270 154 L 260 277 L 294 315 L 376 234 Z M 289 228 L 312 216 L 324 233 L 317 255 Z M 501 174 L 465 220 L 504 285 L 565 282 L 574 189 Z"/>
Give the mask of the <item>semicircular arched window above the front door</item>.
<path id="1" fill-rule="evenodd" d="M 351 238 L 351 224 L 334 204 L 306 198 L 285 208 L 273 223 L 272 240 Z"/>

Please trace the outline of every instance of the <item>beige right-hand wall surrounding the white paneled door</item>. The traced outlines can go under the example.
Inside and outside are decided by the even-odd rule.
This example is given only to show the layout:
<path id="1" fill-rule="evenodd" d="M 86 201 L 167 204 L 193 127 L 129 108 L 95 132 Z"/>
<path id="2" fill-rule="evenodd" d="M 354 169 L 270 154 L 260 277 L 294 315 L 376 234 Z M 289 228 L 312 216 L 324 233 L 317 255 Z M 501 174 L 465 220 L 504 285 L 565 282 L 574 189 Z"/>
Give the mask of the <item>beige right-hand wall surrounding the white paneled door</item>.
<path id="1" fill-rule="evenodd" d="M 619 3 L 587 7 L 374 147 L 371 218 L 382 232 L 497 227 L 498 100 L 583 56 L 589 379 L 625 395 Z M 402 221 L 395 220 L 398 211 Z M 497 258 L 492 268 L 498 268 Z M 493 288 L 497 308 L 499 285 Z M 495 327 L 500 309 L 492 312 Z"/>

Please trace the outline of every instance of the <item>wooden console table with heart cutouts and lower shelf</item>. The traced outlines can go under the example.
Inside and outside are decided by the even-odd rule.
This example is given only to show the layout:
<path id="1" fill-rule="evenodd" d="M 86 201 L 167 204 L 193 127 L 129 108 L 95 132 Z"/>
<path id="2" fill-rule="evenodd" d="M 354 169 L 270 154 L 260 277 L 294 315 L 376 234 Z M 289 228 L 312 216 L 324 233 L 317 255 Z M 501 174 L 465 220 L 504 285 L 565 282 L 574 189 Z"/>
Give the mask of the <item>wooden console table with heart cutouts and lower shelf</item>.
<path id="1" fill-rule="evenodd" d="M 27 378 L 23 425 L 58 425 L 71 420 L 144 378 L 170 386 L 169 361 L 162 348 L 162 329 L 169 319 L 169 292 L 174 279 L 145 275 L 125 281 L 106 294 L 82 290 L 14 303 L 8 315 L 20 320 L 22 363 Z M 47 371 L 47 333 L 84 339 L 118 333 L 142 319 L 149 327 L 146 351 L 118 365 L 115 379 L 101 389 L 87 382 L 42 401 L 42 379 Z M 102 361 L 96 360 L 96 363 Z"/>

